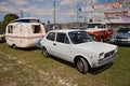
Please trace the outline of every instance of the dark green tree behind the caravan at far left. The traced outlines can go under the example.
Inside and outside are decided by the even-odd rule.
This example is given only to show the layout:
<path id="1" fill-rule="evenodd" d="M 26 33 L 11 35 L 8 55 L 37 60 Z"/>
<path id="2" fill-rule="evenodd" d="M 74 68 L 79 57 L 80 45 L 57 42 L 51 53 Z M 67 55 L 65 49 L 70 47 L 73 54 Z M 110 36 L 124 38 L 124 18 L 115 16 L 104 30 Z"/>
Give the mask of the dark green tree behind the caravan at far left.
<path id="1" fill-rule="evenodd" d="M 4 16 L 3 22 L 2 22 L 2 28 L 5 29 L 6 25 L 8 25 L 10 22 L 12 22 L 12 20 L 14 20 L 14 19 L 17 19 L 17 18 L 18 18 L 18 16 L 17 16 L 16 14 L 6 14 L 6 15 Z"/>

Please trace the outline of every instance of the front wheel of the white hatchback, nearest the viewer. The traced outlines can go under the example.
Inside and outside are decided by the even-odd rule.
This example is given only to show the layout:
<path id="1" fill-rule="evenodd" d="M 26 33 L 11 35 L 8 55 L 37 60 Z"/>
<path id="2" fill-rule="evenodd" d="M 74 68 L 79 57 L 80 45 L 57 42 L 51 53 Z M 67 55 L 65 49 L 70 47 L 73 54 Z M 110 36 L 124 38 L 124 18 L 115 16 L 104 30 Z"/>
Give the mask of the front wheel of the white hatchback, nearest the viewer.
<path id="1" fill-rule="evenodd" d="M 77 70 L 86 74 L 89 70 L 89 64 L 83 58 L 79 58 L 76 62 Z"/>

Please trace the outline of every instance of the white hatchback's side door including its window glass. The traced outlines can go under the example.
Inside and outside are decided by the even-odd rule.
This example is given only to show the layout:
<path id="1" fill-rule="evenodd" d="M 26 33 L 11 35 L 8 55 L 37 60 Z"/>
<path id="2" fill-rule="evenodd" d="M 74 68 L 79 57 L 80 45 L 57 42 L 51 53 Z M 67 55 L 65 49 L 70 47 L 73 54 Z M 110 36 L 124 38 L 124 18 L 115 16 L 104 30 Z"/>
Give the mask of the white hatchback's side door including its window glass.
<path id="1" fill-rule="evenodd" d="M 73 48 L 66 33 L 58 32 L 56 34 L 56 40 L 53 46 L 56 57 L 70 61 L 73 57 L 72 54 Z"/>

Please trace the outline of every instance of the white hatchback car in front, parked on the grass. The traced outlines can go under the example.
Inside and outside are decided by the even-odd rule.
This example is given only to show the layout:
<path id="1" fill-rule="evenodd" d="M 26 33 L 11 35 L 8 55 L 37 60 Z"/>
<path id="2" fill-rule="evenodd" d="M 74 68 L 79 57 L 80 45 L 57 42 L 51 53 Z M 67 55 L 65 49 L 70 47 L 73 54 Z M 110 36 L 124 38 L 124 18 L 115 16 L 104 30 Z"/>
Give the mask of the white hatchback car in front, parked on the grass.
<path id="1" fill-rule="evenodd" d="M 89 67 L 98 68 L 117 57 L 117 46 L 94 42 L 83 30 L 52 30 L 42 39 L 42 54 L 75 63 L 78 71 L 87 73 Z"/>

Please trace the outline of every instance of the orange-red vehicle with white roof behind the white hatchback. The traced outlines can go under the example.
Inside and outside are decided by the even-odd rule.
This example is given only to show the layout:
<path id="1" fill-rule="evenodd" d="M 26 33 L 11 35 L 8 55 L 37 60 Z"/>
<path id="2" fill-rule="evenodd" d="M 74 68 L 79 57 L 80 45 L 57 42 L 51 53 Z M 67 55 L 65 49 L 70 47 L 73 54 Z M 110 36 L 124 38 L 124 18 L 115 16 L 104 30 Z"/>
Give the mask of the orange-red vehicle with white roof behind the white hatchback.
<path id="1" fill-rule="evenodd" d="M 105 23 L 90 23 L 87 32 L 94 41 L 104 42 L 110 39 L 113 29 Z"/>

